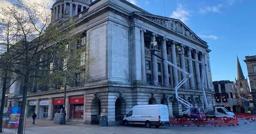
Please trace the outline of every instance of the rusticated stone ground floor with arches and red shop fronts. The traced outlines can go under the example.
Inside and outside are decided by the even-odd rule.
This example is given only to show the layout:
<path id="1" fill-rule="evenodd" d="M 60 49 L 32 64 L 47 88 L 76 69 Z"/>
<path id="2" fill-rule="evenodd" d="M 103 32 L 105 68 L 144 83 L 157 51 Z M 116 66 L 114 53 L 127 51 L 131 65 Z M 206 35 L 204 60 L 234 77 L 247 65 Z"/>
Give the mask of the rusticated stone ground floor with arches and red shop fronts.
<path id="1" fill-rule="evenodd" d="M 65 110 L 66 120 L 98 124 L 100 115 L 107 116 L 108 126 L 122 124 L 122 118 L 129 110 L 138 104 L 166 104 L 169 116 L 181 115 L 186 108 L 174 97 L 174 90 L 150 88 L 118 88 L 108 87 L 99 89 L 81 89 L 67 91 Z M 108 90 L 106 90 L 108 89 Z M 180 91 L 180 96 L 193 106 L 204 108 L 204 99 L 200 91 Z M 18 104 L 22 98 L 10 98 L 12 106 Z M 64 105 L 62 91 L 56 93 L 38 93 L 28 95 L 26 116 L 31 117 L 35 112 L 37 118 L 54 119 Z M 207 93 L 210 108 L 215 105 L 214 95 Z M 15 102 L 17 101 L 17 102 Z"/>

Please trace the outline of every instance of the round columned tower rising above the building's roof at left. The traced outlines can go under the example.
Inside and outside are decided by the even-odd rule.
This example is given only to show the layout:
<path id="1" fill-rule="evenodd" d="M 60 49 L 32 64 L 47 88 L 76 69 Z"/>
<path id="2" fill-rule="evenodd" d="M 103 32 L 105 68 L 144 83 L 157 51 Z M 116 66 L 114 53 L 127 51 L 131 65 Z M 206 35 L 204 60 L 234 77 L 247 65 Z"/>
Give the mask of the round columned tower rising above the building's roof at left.
<path id="1" fill-rule="evenodd" d="M 56 0 L 52 5 L 52 22 L 83 12 L 91 3 L 92 0 Z"/>

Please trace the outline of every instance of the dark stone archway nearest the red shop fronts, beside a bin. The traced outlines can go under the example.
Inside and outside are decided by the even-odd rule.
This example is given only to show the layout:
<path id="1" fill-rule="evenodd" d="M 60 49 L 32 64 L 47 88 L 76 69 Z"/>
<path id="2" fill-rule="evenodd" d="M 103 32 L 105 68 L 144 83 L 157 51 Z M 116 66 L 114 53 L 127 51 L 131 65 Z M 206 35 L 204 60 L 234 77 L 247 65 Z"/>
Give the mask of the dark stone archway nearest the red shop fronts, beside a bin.
<path id="1" fill-rule="evenodd" d="M 91 124 L 99 124 L 100 112 L 101 112 L 101 108 L 100 107 L 101 107 L 100 99 L 94 98 L 92 100 Z"/>

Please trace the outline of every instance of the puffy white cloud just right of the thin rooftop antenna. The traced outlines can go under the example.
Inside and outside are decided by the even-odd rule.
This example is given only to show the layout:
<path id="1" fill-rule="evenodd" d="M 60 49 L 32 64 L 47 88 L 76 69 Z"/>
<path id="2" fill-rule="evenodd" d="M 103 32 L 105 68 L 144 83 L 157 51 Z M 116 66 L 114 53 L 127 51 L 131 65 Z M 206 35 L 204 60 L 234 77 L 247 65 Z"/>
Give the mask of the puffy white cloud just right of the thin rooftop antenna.
<path id="1" fill-rule="evenodd" d="M 183 23 L 188 21 L 188 16 L 190 16 L 190 12 L 182 8 L 181 4 L 177 5 L 176 11 L 173 11 L 170 18 L 175 18 L 181 20 Z"/>

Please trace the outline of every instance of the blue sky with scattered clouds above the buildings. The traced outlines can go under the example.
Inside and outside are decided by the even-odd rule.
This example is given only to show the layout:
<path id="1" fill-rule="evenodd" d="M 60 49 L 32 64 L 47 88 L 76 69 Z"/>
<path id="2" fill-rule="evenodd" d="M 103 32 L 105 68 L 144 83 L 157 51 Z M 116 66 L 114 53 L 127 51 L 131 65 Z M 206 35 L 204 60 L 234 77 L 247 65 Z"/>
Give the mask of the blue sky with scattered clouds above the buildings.
<path id="1" fill-rule="evenodd" d="M 10 0 L 0 0 L 1 3 Z M 23 0 L 28 1 L 28 0 Z M 48 2 L 55 0 L 30 0 Z M 93 0 L 94 1 L 94 0 Z M 236 53 L 245 77 L 245 56 L 256 55 L 255 0 L 127 0 L 156 15 L 182 20 L 194 33 L 208 42 L 212 80 L 234 81 Z"/>

